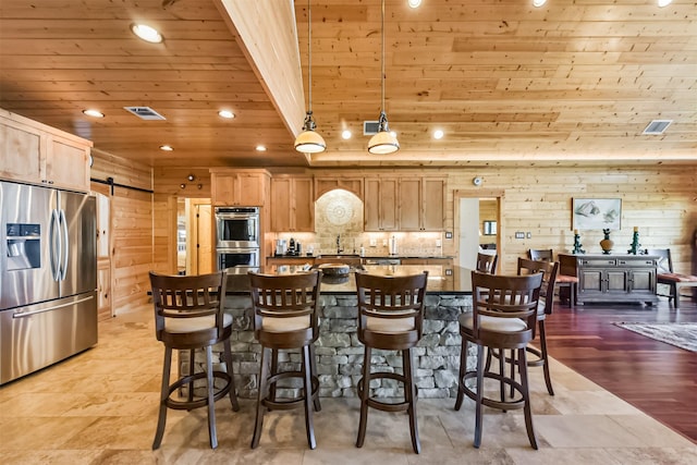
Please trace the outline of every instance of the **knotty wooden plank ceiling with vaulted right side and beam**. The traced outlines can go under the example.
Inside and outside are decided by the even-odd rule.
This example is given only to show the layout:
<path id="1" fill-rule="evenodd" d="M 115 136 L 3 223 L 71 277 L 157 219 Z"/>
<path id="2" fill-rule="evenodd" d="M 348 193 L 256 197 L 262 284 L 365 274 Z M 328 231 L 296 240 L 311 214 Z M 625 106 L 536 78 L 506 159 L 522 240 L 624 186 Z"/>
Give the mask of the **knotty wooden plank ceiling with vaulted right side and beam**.
<path id="1" fill-rule="evenodd" d="M 389 156 L 369 155 L 363 135 L 380 112 L 380 0 L 310 5 L 313 110 L 328 146 L 311 158 L 293 149 L 307 105 L 307 0 L 2 1 L 0 107 L 151 166 L 697 160 L 693 0 L 387 0 L 386 109 L 402 146 Z M 136 21 L 164 42 L 135 38 Z M 222 108 L 237 117 L 220 119 Z M 655 119 L 673 123 L 643 135 Z"/>

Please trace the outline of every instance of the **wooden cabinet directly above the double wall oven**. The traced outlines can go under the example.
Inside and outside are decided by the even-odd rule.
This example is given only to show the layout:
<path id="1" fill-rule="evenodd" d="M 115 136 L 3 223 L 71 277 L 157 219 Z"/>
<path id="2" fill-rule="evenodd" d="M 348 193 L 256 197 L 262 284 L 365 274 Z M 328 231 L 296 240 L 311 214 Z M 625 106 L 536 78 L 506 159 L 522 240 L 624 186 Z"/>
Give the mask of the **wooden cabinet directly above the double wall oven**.
<path id="1" fill-rule="evenodd" d="M 268 194 L 265 170 L 210 170 L 211 197 L 217 206 L 262 207 Z"/>

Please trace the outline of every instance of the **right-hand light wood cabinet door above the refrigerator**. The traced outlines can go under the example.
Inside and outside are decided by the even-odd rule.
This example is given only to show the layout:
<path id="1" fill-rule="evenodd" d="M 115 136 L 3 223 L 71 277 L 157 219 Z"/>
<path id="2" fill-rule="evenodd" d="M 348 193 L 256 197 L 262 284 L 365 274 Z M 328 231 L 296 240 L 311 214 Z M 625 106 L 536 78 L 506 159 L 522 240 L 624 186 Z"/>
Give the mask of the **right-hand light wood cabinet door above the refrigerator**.
<path id="1" fill-rule="evenodd" d="M 89 191 L 89 150 L 49 137 L 44 179 L 53 186 Z"/>

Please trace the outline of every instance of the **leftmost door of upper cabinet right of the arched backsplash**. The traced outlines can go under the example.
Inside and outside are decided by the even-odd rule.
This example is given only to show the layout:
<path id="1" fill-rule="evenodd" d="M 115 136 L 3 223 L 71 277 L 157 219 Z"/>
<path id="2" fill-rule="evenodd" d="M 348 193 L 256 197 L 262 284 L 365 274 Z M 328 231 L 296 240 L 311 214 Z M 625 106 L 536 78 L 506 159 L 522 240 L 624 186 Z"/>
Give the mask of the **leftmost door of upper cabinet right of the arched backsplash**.
<path id="1" fill-rule="evenodd" d="M 396 178 L 366 178 L 364 184 L 364 230 L 399 231 Z"/>

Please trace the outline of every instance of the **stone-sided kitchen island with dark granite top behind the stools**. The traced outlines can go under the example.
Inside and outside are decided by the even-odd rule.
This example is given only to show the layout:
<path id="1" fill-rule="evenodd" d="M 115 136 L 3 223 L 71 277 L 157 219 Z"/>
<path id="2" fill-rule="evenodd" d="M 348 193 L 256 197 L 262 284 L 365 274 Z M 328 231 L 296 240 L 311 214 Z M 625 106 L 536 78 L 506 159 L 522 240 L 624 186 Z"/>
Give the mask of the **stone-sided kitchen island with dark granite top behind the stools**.
<path id="1" fill-rule="evenodd" d="M 416 384 L 421 397 L 454 397 L 457 393 L 460 366 L 460 328 L 457 317 L 472 311 L 470 270 L 442 266 L 364 266 L 365 272 L 384 276 L 429 272 L 426 295 L 424 335 L 415 350 Z M 267 273 L 302 272 L 302 268 L 259 269 Z M 340 282 L 338 282 L 340 281 Z M 252 302 L 247 292 L 248 278 L 243 272 L 229 274 L 225 311 L 233 316 L 232 352 L 239 395 L 256 396 L 260 346 L 254 339 Z M 320 336 L 315 344 L 321 396 L 356 396 L 356 383 L 363 366 L 363 344 L 358 342 L 357 297 L 353 272 L 342 280 L 326 279 L 320 295 Z M 218 347 L 220 354 L 222 347 Z M 280 356 L 281 369 L 297 369 L 299 353 Z M 203 362 L 203 360 L 201 360 Z M 474 358 L 472 362 L 474 364 Z M 374 365 L 386 371 L 401 370 L 402 358 L 396 352 L 375 351 Z M 185 367 L 183 367 L 186 369 Z M 294 395 L 299 386 L 289 387 Z M 394 381 L 384 380 L 375 387 L 376 394 L 390 397 L 398 394 Z M 280 393 L 283 391 L 280 390 Z"/>

